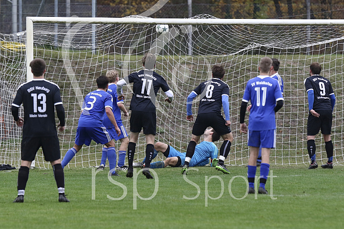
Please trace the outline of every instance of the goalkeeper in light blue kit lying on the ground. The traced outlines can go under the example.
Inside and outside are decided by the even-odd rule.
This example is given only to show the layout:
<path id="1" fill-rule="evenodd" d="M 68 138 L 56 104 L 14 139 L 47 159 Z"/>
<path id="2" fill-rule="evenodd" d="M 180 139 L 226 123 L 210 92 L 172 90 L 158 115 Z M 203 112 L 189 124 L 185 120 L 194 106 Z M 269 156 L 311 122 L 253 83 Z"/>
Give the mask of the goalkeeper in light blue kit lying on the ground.
<path id="1" fill-rule="evenodd" d="M 209 157 L 211 160 L 217 158 L 218 149 L 213 142 L 218 141 L 220 136 L 214 131 L 214 129 L 209 129 L 204 132 L 203 138 L 204 141 L 196 146 L 195 154 L 190 160 L 190 167 L 204 166 L 209 163 Z M 154 144 L 153 158 L 158 155 L 159 151 L 167 157 L 166 160 L 153 162 L 151 163 L 150 168 L 164 168 L 168 165 L 179 167 L 184 164 L 186 153 L 180 153 L 165 143 L 157 142 Z M 145 159 L 146 158 L 144 158 L 142 162 L 133 163 L 133 167 L 144 166 Z"/>

